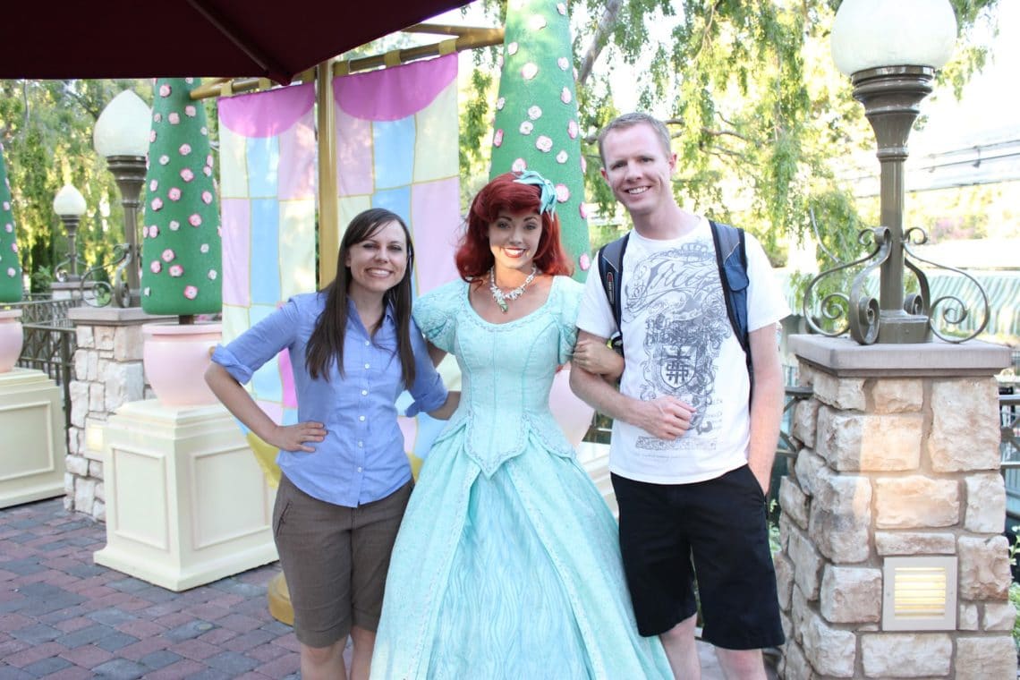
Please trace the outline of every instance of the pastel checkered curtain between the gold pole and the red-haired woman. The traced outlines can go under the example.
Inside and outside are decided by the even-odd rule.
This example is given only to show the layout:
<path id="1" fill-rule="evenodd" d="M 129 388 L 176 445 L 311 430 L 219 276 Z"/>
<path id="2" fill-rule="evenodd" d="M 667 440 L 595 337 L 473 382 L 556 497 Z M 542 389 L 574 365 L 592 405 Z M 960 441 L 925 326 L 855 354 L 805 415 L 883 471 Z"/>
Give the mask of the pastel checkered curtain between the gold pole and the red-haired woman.
<path id="1" fill-rule="evenodd" d="M 366 208 L 392 210 L 411 229 L 415 296 L 453 280 L 461 228 L 457 55 L 337 77 L 333 88 L 340 224 Z M 455 362 L 440 370 L 449 386 L 459 385 Z M 419 415 L 400 425 L 416 468 L 442 423 Z"/>

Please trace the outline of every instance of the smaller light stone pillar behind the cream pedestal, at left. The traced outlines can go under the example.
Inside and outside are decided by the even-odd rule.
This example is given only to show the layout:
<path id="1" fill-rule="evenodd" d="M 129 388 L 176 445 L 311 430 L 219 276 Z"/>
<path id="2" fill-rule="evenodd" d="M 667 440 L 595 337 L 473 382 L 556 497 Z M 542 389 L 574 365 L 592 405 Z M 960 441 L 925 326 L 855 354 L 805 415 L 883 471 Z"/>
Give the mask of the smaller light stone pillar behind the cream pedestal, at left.
<path id="1" fill-rule="evenodd" d="M 105 520 L 103 425 L 121 404 L 149 394 L 142 369 L 142 324 L 173 317 L 151 316 L 139 307 L 75 307 L 67 316 L 78 331 L 78 350 L 64 508 Z"/>

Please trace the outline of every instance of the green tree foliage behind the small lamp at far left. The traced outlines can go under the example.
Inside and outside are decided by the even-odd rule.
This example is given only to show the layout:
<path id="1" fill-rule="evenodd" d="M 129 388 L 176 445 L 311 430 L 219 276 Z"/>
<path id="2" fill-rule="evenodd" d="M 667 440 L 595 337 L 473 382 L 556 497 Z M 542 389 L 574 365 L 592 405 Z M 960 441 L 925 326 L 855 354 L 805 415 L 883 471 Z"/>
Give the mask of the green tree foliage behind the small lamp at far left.
<path id="1" fill-rule="evenodd" d="M 65 184 L 85 196 L 88 210 L 78 231 L 87 266 L 109 262 L 123 243 L 120 195 L 106 161 L 92 148 L 92 128 L 117 93 L 135 89 L 151 99 L 148 81 L 0 81 L 0 140 L 14 197 L 21 265 L 33 287 L 67 257 L 67 238 L 53 213 Z M 80 269 L 81 270 L 81 269 Z"/>

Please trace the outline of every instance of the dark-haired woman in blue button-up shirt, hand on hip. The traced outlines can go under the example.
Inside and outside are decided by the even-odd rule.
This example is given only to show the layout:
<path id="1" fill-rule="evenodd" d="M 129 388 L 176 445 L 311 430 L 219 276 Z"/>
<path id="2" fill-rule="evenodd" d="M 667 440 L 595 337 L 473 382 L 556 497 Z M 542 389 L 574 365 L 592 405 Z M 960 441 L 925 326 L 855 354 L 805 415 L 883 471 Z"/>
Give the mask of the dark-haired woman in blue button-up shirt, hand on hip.
<path id="1" fill-rule="evenodd" d="M 206 381 L 241 422 L 279 449 L 273 536 L 294 607 L 302 677 L 367 678 L 390 554 L 411 492 L 394 406 L 405 388 L 449 417 L 447 393 L 411 318 L 407 226 L 370 209 L 348 225 L 337 278 L 291 298 L 226 347 Z M 298 421 L 279 425 L 242 383 L 288 350 Z"/>

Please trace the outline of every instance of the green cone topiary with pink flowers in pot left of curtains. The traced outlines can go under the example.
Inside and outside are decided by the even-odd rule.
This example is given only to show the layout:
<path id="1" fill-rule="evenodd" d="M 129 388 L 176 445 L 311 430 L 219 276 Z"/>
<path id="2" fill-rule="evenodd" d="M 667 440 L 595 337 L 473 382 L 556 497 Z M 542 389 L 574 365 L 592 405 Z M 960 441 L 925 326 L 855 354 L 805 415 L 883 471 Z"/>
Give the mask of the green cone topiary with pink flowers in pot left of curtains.
<path id="1" fill-rule="evenodd" d="M 222 307 L 219 205 L 198 79 L 156 81 L 142 228 L 142 309 L 195 314 Z"/>

